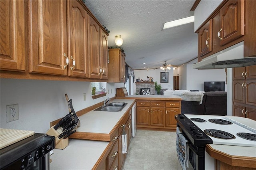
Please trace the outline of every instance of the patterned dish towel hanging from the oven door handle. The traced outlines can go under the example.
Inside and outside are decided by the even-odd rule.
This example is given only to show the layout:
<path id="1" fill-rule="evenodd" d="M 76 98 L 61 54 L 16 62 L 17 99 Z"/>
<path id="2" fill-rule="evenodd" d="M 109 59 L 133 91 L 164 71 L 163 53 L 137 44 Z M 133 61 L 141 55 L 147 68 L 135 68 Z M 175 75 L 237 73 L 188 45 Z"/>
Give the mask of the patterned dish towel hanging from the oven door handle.
<path id="1" fill-rule="evenodd" d="M 176 128 L 176 150 L 177 150 L 177 156 L 178 160 L 180 161 L 180 165 L 182 167 L 182 170 L 186 170 L 186 166 L 188 168 L 188 145 L 186 138 L 183 136 L 183 134 L 180 132 L 180 129 Z"/>

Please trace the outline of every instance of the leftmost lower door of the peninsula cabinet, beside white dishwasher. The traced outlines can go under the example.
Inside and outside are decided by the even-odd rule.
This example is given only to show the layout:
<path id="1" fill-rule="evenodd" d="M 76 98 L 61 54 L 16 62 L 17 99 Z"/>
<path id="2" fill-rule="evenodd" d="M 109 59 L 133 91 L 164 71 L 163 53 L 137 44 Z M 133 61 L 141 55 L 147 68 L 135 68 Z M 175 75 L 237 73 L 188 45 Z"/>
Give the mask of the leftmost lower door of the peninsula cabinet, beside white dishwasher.
<path id="1" fill-rule="evenodd" d="M 150 126 L 150 111 L 149 107 L 137 106 L 137 125 Z"/>

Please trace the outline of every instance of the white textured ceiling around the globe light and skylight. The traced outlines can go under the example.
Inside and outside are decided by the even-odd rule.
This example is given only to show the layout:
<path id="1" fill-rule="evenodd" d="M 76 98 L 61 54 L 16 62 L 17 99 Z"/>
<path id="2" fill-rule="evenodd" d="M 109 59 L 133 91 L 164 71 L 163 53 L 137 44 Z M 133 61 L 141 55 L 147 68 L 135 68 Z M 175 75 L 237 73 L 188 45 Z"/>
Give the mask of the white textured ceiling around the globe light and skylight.
<path id="1" fill-rule="evenodd" d="M 182 65 L 197 56 L 194 23 L 162 30 L 164 22 L 193 16 L 194 0 L 85 0 L 84 4 L 110 30 L 108 46 L 116 46 L 115 36 L 122 36 L 121 48 L 133 69 L 159 67 L 165 60 Z"/>

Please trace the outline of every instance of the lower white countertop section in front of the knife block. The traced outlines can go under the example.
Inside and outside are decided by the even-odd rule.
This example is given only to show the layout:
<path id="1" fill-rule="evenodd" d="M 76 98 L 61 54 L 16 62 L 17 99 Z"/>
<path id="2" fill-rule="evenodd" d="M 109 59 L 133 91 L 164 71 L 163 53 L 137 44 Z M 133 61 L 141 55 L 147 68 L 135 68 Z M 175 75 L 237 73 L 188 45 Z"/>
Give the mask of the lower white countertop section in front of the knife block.
<path id="1" fill-rule="evenodd" d="M 50 170 L 91 170 L 109 142 L 69 139 L 68 146 L 54 149 Z"/>

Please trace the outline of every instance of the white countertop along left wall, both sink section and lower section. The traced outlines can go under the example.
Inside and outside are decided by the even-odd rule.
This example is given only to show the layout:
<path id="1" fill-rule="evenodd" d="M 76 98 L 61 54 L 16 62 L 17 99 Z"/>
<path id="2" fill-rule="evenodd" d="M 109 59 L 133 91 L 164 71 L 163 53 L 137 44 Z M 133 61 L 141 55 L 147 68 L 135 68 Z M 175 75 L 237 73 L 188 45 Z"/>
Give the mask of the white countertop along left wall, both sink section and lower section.
<path id="1" fill-rule="evenodd" d="M 109 134 L 134 101 L 134 99 L 115 99 L 110 103 L 127 103 L 122 111 L 90 111 L 80 116 L 80 127 L 76 131 Z M 105 141 L 70 138 L 68 141 L 68 146 L 63 150 L 54 149 L 54 154 L 50 156 L 51 170 L 91 170 L 109 144 Z"/>

